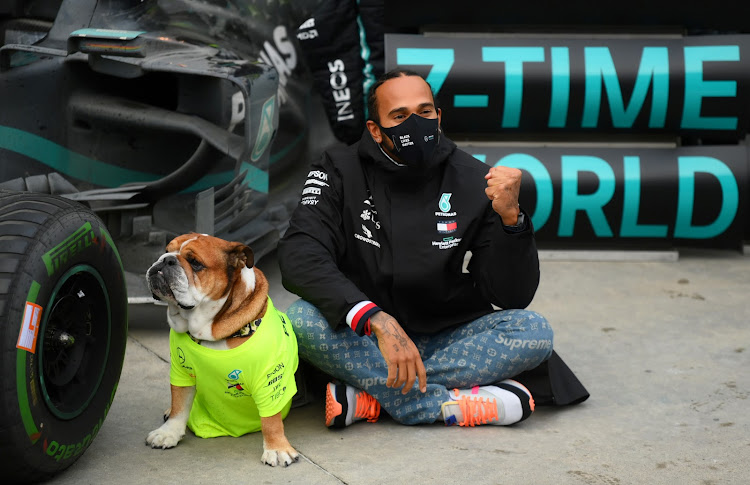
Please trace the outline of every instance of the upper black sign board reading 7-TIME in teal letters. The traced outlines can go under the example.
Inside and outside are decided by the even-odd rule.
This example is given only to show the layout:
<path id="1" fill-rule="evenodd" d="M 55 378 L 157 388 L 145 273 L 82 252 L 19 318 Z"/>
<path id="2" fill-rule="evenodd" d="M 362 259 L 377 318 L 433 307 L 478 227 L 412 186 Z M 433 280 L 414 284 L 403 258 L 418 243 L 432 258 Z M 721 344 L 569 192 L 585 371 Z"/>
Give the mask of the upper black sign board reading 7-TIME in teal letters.
<path id="1" fill-rule="evenodd" d="M 517 133 L 689 134 L 750 125 L 750 36 L 633 39 L 386 36 L 387 68 L 423 74 L 445 128 Z"/>

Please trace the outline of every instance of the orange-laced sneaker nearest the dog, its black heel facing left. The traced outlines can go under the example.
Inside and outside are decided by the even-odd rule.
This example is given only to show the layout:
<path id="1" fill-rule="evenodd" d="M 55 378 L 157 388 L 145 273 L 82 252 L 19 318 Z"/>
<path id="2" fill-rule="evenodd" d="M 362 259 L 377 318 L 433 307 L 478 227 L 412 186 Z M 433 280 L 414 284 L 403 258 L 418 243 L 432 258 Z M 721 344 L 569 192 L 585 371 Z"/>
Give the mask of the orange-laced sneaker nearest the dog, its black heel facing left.
<path id="1" fill-rule="evenodd" d="M 365 391 L 333 382 L 326 386 L 326 426 L 329 428 L 345 428 L 362 419 L 374 423 L 378 416 L 380 403 Z"/>

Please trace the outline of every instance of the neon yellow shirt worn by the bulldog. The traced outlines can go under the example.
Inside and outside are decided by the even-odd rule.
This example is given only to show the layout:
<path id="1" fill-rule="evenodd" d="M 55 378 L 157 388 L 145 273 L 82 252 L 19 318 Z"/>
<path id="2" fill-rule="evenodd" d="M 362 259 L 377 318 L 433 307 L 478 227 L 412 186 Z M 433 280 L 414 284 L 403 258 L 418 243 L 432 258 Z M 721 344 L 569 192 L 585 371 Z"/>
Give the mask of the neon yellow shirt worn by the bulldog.
<path id="1" fill-rule="evenodd" d="M 201 438 L 260 431 L 260 418 L 285 418 L 297 392 L 297 339 L 283 312 L 268 299 L 253 336 L 239 347 L 214 350 L 187 333 L 169 332 L 170 383 L 195 386 L 188 427 Z"/>

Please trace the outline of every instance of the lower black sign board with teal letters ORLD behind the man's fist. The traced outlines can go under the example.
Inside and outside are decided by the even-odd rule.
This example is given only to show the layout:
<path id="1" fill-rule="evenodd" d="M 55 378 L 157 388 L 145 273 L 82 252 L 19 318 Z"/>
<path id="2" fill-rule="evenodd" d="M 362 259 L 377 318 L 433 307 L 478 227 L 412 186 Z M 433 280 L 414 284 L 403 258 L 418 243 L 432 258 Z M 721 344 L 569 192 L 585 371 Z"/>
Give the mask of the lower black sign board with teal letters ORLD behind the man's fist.
<path id="1" fill-rule="evenodd" d="M 734 246 L 747 230 L 745 147 L 461 146 L 524 171 L 520 202 L 554 246 Z"/>

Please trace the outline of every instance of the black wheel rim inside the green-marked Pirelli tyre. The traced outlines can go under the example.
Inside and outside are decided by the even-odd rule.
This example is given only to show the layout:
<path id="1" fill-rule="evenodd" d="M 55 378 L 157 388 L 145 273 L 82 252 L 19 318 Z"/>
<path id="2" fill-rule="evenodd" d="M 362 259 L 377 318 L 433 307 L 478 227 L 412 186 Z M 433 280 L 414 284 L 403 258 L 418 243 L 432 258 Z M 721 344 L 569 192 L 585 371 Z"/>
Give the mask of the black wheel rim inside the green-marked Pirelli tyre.
<path id="1" fill-rule="evenodd" d="M 104 375 L 111 335 L 109 295 L 88 265 L 68 270 L 47 304 L 39 343 L 42 395 L 61 419 L 80 415 Z"/>

